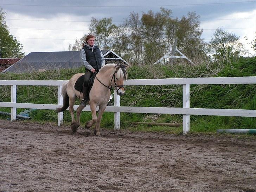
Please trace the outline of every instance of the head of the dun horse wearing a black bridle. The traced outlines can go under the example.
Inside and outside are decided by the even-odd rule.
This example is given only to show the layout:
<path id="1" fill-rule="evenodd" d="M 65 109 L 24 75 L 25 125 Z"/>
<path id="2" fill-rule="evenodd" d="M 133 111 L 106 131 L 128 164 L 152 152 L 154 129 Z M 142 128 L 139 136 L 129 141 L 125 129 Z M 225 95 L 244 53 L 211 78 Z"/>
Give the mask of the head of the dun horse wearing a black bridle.
<path id="1" fill-rule="evenodd" d="M 111 81 L 112 86 L 116 89 L 117 95 L 124 95 L 123 82 L 127 79 L 127 66 L 124 64 L 116 64 L 114 69 L 115 72 Z"/>

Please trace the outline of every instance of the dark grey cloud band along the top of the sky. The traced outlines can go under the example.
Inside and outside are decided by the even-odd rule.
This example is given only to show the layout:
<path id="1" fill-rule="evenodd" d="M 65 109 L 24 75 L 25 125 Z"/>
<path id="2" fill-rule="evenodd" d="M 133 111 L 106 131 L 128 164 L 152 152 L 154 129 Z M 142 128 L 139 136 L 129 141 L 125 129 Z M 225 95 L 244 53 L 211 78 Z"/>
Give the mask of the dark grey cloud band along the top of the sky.
<path id="1" fill-rule="evenodd" d="M 221 4 L 229 2 L 228 4 Z M 173 11 L 173 17 L 182 17 L 187 15 L 188 12 L 195 11 L 201 16 L 201 19 L 211 19 L 218 17 L 222 14 L 229 14 L 234 11 L 250 11 L 255 8 L 255 1 L 244 1 L 243 3 L 230 3 L 237 1 L 211 1 L 211 0 L 194 0 L 194 1 L 177 1 L 177 0 L 101 0 L 101 1 L 28 1 L 28 0 L 1 0 L 1 7 L 7 13 L 9 11 L 30 15 L 35 18 L 46 18 L 51 19 L 56 14 L 69 14 L 69 15 L 81 15 L 86 17 L 92 15 L 95 18 L 112 17 L 113 21 L 123 21 L 124 18 L 129 17 L 130 12 L 142 14 L 142 12 L 153 12 L 160 11 L 160 6 Z M 6 5 L 12 4 L 12 5 Z M 183 5 L 184 6 L 178 6 Z M 194 4 L 194 5 L 190 5 Z M 203 5 L 198 5 L 203 4 Z M 209 5 L 205 5 L 209 4 Z M 28 6 L 18 6 L 28 5 Z M 30 6 L 38 5 L 38 6 Z M 148 5 L 159 5 L 159 6 L 148 6 Z M 167 6 L 168 5 L 168 6 Z M 172 6 L 169 6 L 172 5 Z M 106 7 L 101 7 L 106 6 Z M 119 7 L 120 6 L 120 7 Z M 126 6 L 126 7 L 125 7 Z M 138 7 L 136 7 L 138 6 Z M 115 23 L 118 24 L 118 23 Z"/>

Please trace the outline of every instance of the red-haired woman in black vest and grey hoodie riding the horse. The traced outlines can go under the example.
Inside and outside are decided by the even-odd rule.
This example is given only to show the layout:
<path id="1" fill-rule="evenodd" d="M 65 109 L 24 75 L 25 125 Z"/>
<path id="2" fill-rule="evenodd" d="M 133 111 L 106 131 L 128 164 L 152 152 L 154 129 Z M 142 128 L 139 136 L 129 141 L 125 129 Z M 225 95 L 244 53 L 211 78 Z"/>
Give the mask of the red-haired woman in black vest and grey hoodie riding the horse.
<path id="1" fill-rule="evenodd" d="M 83 84 L 83 100 L 80 103 L 85 107 L 88 101 L 88 82 L 93 73 L 100 70 L 105 65 L 104 56 L 95 43 L 95 36 L 89 34 L 85 39 L 80 51 L 82 64 L 85 66 L 85 76 Z"/>

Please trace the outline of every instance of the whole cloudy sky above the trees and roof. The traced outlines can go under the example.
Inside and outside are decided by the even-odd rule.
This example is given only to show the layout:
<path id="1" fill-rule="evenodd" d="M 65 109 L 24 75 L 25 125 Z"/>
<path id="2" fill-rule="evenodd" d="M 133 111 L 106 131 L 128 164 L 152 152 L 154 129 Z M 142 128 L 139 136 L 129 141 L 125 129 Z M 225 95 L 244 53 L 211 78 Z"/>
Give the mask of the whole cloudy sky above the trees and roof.
<path id="1" fill-rule="evenodd" d="M 203 38 L 209 42 L 217 28 L 236 34 L 249 53 L 247 43 L 255 39 L 256 0 L 0 0 L 10 34 L 30 52 L 69 51 L 89 33 L 92 17 L 112 18 L 123 23 L 130 13 L 142 15 L 160 7 L 172 10 L 173 18 L 196 12 Z M 248 40 L 245 40 L 247 36 Z"/>

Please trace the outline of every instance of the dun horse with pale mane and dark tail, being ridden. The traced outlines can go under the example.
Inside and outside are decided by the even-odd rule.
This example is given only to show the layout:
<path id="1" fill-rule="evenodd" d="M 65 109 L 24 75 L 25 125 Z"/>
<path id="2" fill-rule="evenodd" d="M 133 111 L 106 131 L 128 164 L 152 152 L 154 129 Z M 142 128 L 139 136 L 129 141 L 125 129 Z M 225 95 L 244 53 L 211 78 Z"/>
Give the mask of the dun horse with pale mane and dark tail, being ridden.
<path id="1" fill-rule="evenodd" d="M 118 95 L 124 94 L 123 81 L 127 79 L 127 66 L 123 64 L 107 64 L 103 66 L 97 75 L 95 76 L 94 83 L 89 92 L 89 101 L 92 120 L 88 121 L 85 128 L 92 127 L 95 123 L 94 134 L 100 136 L 100 123 L 101 117 L 105 108 L 107 107 L 108 100 L 110 98 L 110 88 L 114 87 Z M 76 133 L 77 128 L 80 126 L 80 114 L 83 110 L 83 106 L 79 105 L 76 112 L 76 120 L 74 117 L 74 103 L 76 98 L 81 101 L 83 93 L 75 89 L 75 83 L 79 77 L 84 75 L 83 73 L 77 73 L 66 81 L 62 86 L 63 95 L 63 107 L 57 108 L 56 112 L 66 110 L 69 107 L 70 115 L 72 118 L 70 134 Z M 96 107 L 98 109 L 98 117 L 96 115 Z"/>

